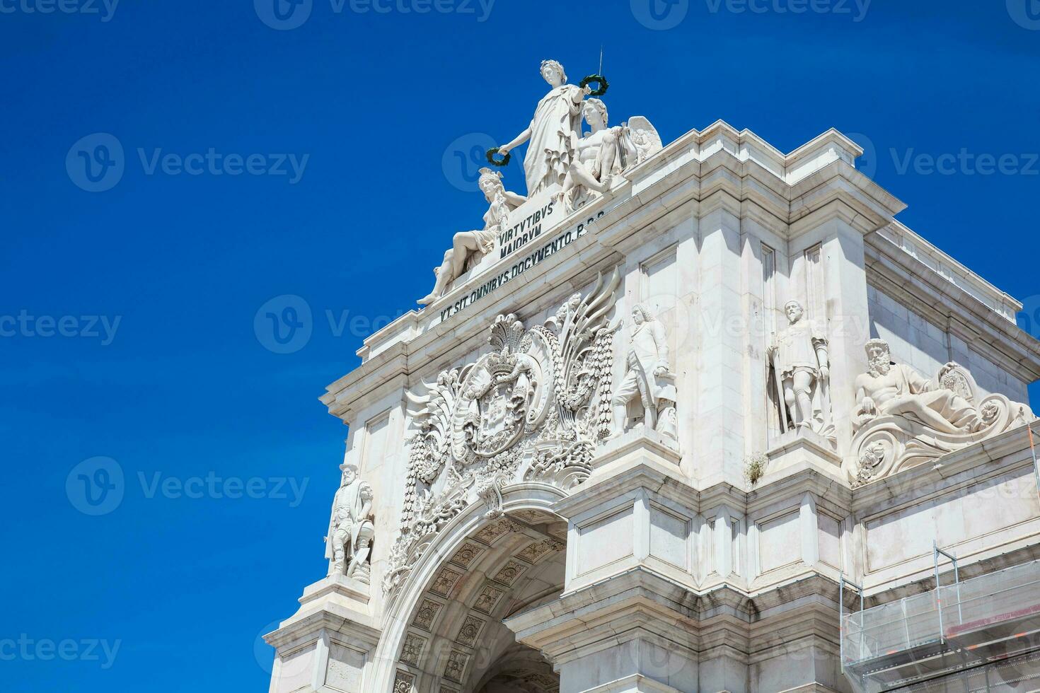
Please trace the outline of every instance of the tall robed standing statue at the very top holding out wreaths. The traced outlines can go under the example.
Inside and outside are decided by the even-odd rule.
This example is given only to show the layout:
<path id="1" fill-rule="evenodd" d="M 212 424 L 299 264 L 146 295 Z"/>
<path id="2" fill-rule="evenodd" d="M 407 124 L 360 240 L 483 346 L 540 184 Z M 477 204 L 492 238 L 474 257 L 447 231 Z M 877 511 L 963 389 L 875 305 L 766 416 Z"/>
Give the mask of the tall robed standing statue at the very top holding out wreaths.
<path id="1" fill-rule="evenodd" d="M 527 129 L 498 148 L 498 153 L 505 155 L 527 142 L 523 170 L 528 196 L 563 185 L 571 164 L 572 139 L 581 134 L 581 101 L 592 94 L 589 86 L 568 84 L 564 66 L 555 60 L 544 60 L 541 72 L 552 88 L 538 102 Z"/>

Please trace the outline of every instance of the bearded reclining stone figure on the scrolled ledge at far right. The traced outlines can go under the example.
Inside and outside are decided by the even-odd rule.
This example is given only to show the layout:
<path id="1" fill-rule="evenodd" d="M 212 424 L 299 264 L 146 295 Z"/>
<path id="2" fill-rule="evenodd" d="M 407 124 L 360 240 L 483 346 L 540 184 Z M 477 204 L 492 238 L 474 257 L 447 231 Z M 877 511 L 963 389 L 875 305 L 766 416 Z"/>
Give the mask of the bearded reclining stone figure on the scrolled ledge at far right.
<path id="1" fill-rule="evenodd" d="M 884 340 L 868 341 L 866 355 L 870 368 L 856 378 L 857 427 L 884 416 L 912 419 L 938 433 L 972 433 L 985 426 L 974 405 L 956 392 L 892 363 Z"/>

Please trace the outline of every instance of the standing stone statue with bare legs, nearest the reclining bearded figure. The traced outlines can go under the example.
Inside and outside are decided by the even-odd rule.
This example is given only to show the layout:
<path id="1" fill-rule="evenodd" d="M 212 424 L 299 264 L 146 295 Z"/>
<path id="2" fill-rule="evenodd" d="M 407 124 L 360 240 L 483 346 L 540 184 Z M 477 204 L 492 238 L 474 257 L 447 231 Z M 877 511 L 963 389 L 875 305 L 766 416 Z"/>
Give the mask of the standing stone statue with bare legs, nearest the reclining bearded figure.
<path id="1" fill-rule="evenodd" d="M 827 339 L 796 300 L 784 305 L 787 325 L 769 347 L 773 383 L 780 394 L 781 432 L 809 429 L 836 445 L 830 401 Z"/>

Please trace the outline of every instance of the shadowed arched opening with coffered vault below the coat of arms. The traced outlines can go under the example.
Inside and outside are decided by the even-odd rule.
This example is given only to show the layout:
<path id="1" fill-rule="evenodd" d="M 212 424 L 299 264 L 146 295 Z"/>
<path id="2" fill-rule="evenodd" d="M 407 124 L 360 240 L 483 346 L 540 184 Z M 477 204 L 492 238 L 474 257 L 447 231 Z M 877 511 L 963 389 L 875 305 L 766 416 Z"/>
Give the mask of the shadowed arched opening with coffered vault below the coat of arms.
<path id="1" fill-rule="evenodd" d="M 566 540 L 565 521 L 527 508 L 484 518 L 431 547 L 439 551 L 424 584 L 406 585 L 410 593 L 401 595 L 414 606 L 396 634 L 394 693 L 558 691 L 551 665 L 502 621 L 558 598 Z"/>

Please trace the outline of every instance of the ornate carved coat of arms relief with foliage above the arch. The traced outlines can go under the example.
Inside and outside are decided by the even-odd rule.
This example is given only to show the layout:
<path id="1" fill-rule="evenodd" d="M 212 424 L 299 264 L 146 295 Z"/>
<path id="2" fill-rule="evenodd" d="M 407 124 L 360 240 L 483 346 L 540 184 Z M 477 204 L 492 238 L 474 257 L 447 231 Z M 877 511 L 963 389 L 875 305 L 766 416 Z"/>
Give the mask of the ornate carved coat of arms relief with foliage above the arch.
<path id="1" fill-rule="evenodd" d="M 617 324 L 607 316 L 620 284 L 617 269 L 600 274 L 587 295 L 574 294 L 530 329 L 498 316 L 490 353 L 441 372 L 423 383 L 424 394 L 409 394 L 414 433 L 386 592 L 395 592 L 436 532 L 471 503 L 495 516 L 510 483 L 570 489 L 589 477 L 596 446 L 610 431 Z"/>

